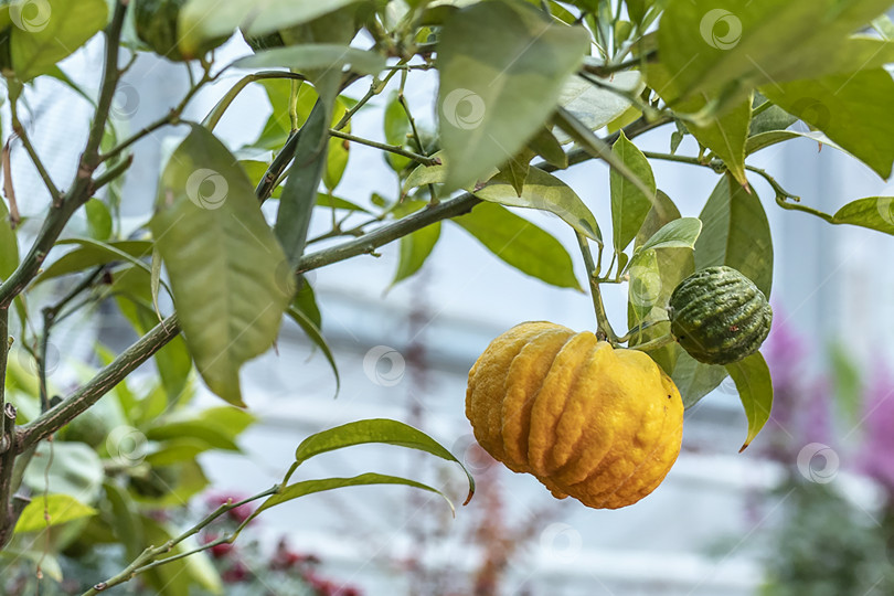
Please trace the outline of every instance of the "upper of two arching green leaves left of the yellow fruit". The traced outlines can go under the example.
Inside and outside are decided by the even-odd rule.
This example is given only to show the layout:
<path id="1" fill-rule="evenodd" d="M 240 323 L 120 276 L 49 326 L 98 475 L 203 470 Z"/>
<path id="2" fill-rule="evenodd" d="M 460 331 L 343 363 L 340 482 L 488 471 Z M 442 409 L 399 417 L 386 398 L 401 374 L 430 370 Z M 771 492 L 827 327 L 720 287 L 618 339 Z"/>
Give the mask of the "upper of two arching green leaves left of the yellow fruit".
<path id="1" fill-rule="evenodd" d="M 466 477 L 469 479 L 469 494 L 466 498 L 466 503 L 472 498 L 475 493 L 475 479 L 461 461 L 422 430 L 413 428 L 402 422 L 387 418 L 372 418 L 348 423 L 309 436 L 302 440 L 295 450 L 295 465 L 292 469 L 313 456 L 369 443 L 396 445 L 408 449 L 417 449 L 446 459 L 447 461 L 459 464 L 459 467 L 462 468 L 462 471 L 466 472 Z M 287 476 L 286 481 L 288 481 L 288 478 Z"/>

